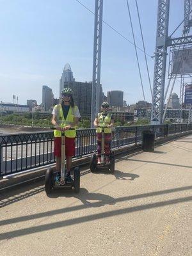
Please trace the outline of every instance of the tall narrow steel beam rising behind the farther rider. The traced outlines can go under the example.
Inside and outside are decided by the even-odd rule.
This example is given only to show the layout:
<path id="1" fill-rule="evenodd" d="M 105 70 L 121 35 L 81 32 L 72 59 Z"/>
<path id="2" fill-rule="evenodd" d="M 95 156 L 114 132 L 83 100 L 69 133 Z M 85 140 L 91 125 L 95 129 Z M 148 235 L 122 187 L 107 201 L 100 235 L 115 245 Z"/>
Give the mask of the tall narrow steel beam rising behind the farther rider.
<path id="1" fill-rule="evenodd" d="M 100 60 L 102 44 L 102 7 L 103 0 L 95 0 L 95 25 L 93 43 L 93 79 L 92 79 L 92 117 L 91 127 L 95 116 L 99 112 L 100 95 Z"/>

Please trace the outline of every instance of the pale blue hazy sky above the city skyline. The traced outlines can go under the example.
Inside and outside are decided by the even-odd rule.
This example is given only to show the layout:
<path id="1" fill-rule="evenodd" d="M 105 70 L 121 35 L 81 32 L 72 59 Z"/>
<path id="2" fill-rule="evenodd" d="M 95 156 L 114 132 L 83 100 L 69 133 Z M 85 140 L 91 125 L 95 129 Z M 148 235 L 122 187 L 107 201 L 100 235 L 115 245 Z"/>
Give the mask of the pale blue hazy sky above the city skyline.
<path id="1" fill-rule="evenodd" d="M 94 12 L 95 0 L 79 0 Z M 103 20 L 131 42 L 126 0 L 104 0 Z M 138 0 L 145 49 L 154 55 L 157 0 Z M 129 0 L 136 45 L 142 48 L 135 0 Z M 42 103 L 42 86 L 59 96 L 60 78 L 66 63 L 76 81 L 92 81 L 94 15 L 76 0 L 0 0 L 0 101 L 19 104 L 27 99 Z M 169 35 L 184 19 L 183 0 L 170 0 Z M 182 35 L 182 27 L 173 37 Z M 169 51 L 168 51 L 169 52 Z M 102 26 L 100 83 L 104 94 L 122 90 L 127 104 L 143 100 L 134 45 Z M 145 99 L 151 102 L 143 52 L 138 50 Z M 153 82 L 154 59 L 148 57 Z M 168 70 L 168 65 L 166 67 Z M 167 83 L 167 79 L 166 79 Z M 179 95 L 177 80 L 173 92 Z"/>

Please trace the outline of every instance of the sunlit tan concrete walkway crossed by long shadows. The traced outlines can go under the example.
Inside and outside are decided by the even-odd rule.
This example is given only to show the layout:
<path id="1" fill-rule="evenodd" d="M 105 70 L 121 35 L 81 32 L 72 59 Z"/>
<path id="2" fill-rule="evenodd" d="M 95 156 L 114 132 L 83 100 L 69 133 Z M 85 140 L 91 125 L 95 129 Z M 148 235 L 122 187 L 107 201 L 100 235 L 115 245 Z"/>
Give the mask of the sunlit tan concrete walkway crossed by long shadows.
<path id="1" fill-rule="evenodd" d="M 192 255 L 192 136 L 81 176 L 79 195 L 42 183 L 0 199 L 0 254 Z"/>

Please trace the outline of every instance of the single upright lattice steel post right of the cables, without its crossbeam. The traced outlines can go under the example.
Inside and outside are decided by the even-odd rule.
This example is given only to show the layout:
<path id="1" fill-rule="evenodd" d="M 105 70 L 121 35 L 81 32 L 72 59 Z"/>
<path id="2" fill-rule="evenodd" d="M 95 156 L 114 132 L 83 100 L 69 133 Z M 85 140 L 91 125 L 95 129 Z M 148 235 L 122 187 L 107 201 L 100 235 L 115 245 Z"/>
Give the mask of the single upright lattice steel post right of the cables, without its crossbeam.
<path id="1" fill-rule="evenodd" d="M 158 1 L 151 124 L 161 124 L 163 118 L 169 8 L 170 0 Z"/>

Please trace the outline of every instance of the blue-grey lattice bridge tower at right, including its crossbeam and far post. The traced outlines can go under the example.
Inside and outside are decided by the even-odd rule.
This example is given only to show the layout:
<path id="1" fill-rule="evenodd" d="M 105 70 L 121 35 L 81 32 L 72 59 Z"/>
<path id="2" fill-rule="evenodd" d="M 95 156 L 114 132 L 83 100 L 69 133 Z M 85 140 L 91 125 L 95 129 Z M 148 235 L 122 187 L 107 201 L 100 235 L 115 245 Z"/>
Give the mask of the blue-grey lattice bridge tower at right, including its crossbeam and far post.
<path id="1" fill-rule="evenodd" d="M 163 106 L 165 100 L 164 82 L 166 76 L 166 56 L 168 47 L 192 43 L 192 36 L 188 36 L 189 29 L 192 26 L 190 10 L 191 0 L 184 0 L 183 35 L 179 38 L 172 39 L 171 36 L 168 36 L 170 0 L 158 1 L 151 124 L 162 124 L 163 122 Z"/>

